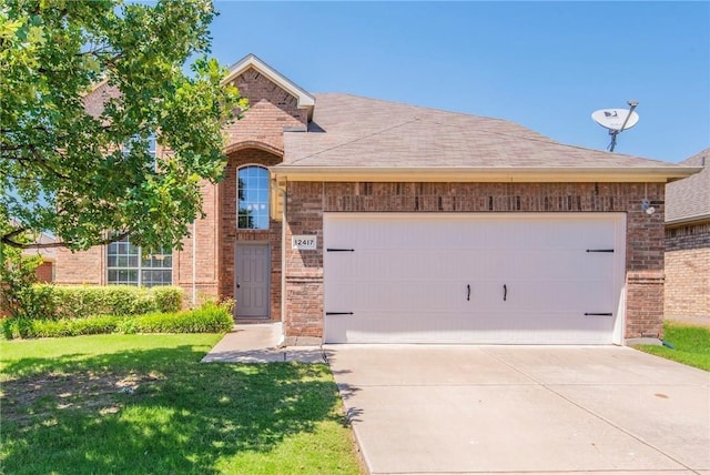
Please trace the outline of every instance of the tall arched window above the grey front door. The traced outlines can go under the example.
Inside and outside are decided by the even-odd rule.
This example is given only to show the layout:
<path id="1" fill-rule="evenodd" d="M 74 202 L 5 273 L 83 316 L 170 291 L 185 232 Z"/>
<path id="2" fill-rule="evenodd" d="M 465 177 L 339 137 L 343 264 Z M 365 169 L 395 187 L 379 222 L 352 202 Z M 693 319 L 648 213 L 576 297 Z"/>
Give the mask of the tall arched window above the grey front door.
<path id="1" fill-rule="evenodd" d="M 236 228 L 268 229 L 268 170 L 244 166 L 237 173 L 239 211 Z"/>

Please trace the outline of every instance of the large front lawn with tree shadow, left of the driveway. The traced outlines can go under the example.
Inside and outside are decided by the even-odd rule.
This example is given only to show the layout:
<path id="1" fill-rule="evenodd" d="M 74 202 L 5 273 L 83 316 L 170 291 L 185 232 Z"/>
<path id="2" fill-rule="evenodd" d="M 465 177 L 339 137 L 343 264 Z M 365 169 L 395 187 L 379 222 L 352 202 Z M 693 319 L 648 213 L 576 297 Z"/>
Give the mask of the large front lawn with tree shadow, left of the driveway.
<path id="1" fill-rule="evenodd" d="M 0 473 L 361 472 L 327 366 L 200 363 L 219 338 L 0 342 Z"/>

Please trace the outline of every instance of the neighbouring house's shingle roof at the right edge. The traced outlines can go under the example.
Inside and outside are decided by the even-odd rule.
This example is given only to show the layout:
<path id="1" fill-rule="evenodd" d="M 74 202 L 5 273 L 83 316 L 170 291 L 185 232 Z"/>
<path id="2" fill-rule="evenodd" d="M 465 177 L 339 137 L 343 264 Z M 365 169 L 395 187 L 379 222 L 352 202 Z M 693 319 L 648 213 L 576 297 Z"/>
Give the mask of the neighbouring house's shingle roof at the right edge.
<path id="1" fill-rule="evenodd" d="M 680 164 L 704 168 L 700 173 L 666 185 L 666 222 L 710 220 L 710 149 Z"/>

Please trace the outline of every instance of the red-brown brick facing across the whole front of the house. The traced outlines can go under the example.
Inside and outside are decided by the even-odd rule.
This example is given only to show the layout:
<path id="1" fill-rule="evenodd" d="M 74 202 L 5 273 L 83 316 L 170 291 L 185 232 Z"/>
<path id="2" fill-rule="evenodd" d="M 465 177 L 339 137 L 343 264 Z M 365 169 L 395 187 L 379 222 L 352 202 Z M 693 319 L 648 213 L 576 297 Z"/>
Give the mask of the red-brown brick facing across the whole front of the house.
<path id="1" fill-rule="evenodd" d="M 253 68 L 235 78 L 233 83 L 248 98 L 251 109 L 243 120 L 225 128 L 230 138 L 225 180 L 220 185 L 203 185 L 205 216 L 196 222 L 195 238 L 197 265 L 194 271 L 199 292 L 233 296 L 235 244 L 239 241 L 268 242 L 272 319 L 282 316 L 283 266 L 286 341 L 320 341 L 323 335 L 324 212 L 625 212 L 625 336 L 662 335 L 663 183 L 291 182 L 287 184 L 286 222 L 271 221 L 270 230 L 263 231 L 237 230 L 237 169 L 245 164 L 271 166 L 280 163 L 283 131 L 304 129 L 307 117 L 305 110 L 297 109 L 295 97 Z M 90 112 L 98 110 L 99 102 L 111 94 L 105 87 L 97 89 L 87 98 L 87 109 Z M 653 201 L 655 214 L 648 215 L 641 210 L 643 199 Z M 286 261 L 282 263 L 282 225 L 286 242 L 293 234 L 317 235 L 317 251 L 286 246 Z M 173 282 L 185 289 L 187 295 L 192 289 L 192 242 L 191 236 L 186 238 L 182 251 L 173 254 Z M 694 247 L 669 249 L 669 264 L 673 259 L 671 254 L 677 251 L 697 252 Z M 694 254 L 682 259 L 702 262 Z M 105 247 L 97 246 L 81 253 L 58 250 L 55 276 L 61 283 L 105 283 Z"/>

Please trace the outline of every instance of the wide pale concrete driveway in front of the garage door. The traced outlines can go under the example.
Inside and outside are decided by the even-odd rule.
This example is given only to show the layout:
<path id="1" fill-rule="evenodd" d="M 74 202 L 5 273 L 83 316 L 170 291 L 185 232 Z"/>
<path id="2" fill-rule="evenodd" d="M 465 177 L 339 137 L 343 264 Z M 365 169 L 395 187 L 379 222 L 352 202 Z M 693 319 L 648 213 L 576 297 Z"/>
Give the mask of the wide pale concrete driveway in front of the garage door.
<path id="1" fill-rule="evenodd" d="M 326 345 L 373 474 L 710 475 L 710 373 L 628 347 Z"/>

